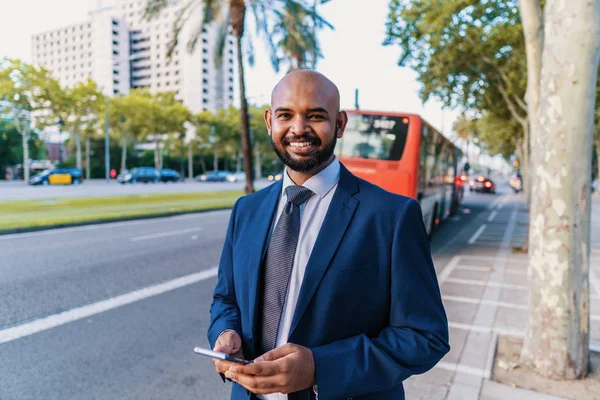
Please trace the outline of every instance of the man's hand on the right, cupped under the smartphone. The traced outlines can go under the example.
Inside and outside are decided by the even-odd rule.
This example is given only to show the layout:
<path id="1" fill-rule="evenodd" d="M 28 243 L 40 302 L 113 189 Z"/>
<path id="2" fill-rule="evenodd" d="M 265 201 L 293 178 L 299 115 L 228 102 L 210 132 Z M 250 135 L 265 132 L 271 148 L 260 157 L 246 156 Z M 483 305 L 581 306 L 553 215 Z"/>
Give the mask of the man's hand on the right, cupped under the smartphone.
<path id="1" fill-rule="evenodd" d="M 256 394 L 288 394 L 315 384 L 315 360 L 310 349 L 288 343 L 252 364 L 236 364 L 225 376 Z"/>

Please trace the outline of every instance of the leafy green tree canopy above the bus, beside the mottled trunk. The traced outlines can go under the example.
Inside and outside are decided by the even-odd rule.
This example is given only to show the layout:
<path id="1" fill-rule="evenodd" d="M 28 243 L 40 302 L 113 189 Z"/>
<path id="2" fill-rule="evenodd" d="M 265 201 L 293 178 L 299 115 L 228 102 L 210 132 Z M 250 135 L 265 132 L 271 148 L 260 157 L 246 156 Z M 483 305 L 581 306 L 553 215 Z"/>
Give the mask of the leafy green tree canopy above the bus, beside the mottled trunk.
<path id="1" fill-rule="evenodd" d="M 488 121 L 518 123 L 521 129 L 511 130 L 516 137 L 510 145 L 526 158 L 522 37 L 516 0 L 392 0 L 385 44 L 398 46 L 399 64 L 417 71 L 424 101 L 434 96 L 447 106 L 484 113 Z M 488 126 L 479 124 L 479 129 Z M 494 140 L 493 132 L 483 137 Z M 497 142 L 488 146 L 500 147 Z"/>

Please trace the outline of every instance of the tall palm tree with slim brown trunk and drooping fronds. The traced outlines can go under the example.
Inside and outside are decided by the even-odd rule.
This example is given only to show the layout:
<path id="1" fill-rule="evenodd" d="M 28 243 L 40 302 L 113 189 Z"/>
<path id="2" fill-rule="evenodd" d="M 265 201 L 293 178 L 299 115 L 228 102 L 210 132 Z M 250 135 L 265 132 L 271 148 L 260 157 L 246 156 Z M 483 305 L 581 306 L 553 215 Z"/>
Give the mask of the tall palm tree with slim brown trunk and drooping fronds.
<path id="1" fill-rule="evenodd" d="M 271 63 L 276 71 L 279 70 L 280 57 L 278 56 L 278 47 L 273 40 L 273 31 L 275 26 L 281 24 L 283 17 L 289 17 L 290 14 L 293 16 L 294 21 L 300 21 L 301 24 L 305 24 L 307 27 L 310 20 L 313 21 L 314 27 L 323 26 L 323 19 L 316 14 L 316 3 L 326 3 L 329 0 L 315 0 L 312 8 L 312 12 L 309 10 L 309 6 L 306 1 L 303 0 L 190 0 L 188 1 L 178 13 L 178 18 L 175 21 L 173 28 L 173 40 L 170 43 L 167 56 L 173 53 L 175 47 L 178 44 L 179 34 L 183 26 L 188 22 L 189 18 L 194 14 L 192 11 L 196 8 L 201 7 L 203 15 L 201 21 L 198 22 L 198 27 L 194 29 L 194 34 L 190 38 L 188 43 L 188 50 L 192 51 L 198 42 L 198 39 L 202 35 L 202 30 L 205 25 L 212 23 L 217 24 L 219 27 L 220 39 L 217 40 L 217 64 L 220 63 L 220 58 L 223 54 L 225 45 L 225 37 L 228 33 L 228 28 L 231 29 L 231 34 L 236 38 L 237 57 L 238 57 L 238 79 L 240 85 L 240 117 L 241 117 L 241 131 L 242 131 L 242 152 L 244 155 L 244 173 L 246 174 L 246 193 L 254 192 L 253 186 L 253 171 L 252 171 L 252 147 L 250 144 L 250 123 L 248 120 L 248 102 L 246 100 L 246 82 L 244 79 L 244 56 L 242 52 L 242 39 L 245 33 L 245 21 L 246 12 L 248 9 L 252 12 L 256 18 L 257 29 L 259 33 L 263 33 L 269 49 L 271 52 Z M 168 0 L 147 0 L 145 18 L 152 19 L 160 14 L 168 6 Z M 308 12 L 307 12 L 308 11 Z M 290 27 L 296 27 L 298 24 L 294 24 Z M 327 24 L 330 26 L 329 24 Z M 285 26 L 279 26 L 277 31 L 285 31 Z M 302 40 L 298 43 L 303 43 L 306 47 L 302 51 L 295 44 L 293 46 L 295 65 L 298 65 L 298 61 L 302 61 L 310 58 L 309 54 L 319 54 L 315 49 L 318 48 L 316 45 L 316 38 L 313 30 L 312 40 Z M 290 39 L 291 43 L 291 39 Z M 282 45 L 282 43 L 278 43 Z M 292 46 L 290 45 L 290 49 Z M 291 51 L 284 51 L 285 56 L 290 56 Z M 302 54 L 302 55 L 301 55 Z M 252 57 L 249 58 L 252 64 Z"/>

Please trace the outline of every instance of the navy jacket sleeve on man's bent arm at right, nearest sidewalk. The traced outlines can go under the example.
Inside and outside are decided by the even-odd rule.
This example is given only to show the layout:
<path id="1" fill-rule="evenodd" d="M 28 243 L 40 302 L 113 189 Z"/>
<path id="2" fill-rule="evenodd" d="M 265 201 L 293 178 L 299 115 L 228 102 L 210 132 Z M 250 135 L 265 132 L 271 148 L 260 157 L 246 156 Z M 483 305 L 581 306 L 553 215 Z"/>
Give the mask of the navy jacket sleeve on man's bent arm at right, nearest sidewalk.
<path id="1" fill-rule="evenodd" d="M 311 349 L 320 398 L 389 390 L 433 368 L 450 350 L 429 240 L 413 199 L 396 220 L 391 259 L 389 326 L 376 337 L 362 334 Z"/>

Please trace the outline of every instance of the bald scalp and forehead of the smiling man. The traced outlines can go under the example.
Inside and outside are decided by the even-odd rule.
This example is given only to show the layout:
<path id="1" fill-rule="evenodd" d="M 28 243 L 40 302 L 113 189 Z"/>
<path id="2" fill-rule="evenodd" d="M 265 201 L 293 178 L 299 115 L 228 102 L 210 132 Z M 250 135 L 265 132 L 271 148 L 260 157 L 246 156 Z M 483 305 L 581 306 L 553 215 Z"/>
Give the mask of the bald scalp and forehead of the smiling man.
<path id="1" fill-rule="evenodd" d="M 311 70 L 290 72 L 284 76 L 271 93 L 271 106 L 277 108 L 290 97 L 319 98 L 331 107 L 330 112 L 340 111 L 340 91 L 325 75 Z M 328 107 L 328 108 L 329 108 Z"/>

